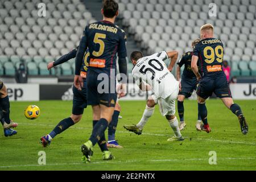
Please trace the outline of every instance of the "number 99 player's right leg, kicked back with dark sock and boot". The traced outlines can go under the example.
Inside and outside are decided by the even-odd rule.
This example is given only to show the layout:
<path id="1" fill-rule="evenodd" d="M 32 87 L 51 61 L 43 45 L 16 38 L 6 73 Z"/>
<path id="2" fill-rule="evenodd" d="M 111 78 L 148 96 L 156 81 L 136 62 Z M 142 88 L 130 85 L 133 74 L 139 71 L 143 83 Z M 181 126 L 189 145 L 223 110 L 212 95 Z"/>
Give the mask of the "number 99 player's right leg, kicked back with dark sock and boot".
<path id="1" fill-rule="evenodd" d="M 248 125 L 242 113 L 241 107 L 238 104 L 234 104 L 233 99 L 231 97 L 221 98 L 221 100 L 225 104 L 225 106 L 232 111 L 232 113 L 237 115 L 238 120 L 240 122 L 242 134 L 246 135 L 248 133 Z"/>

